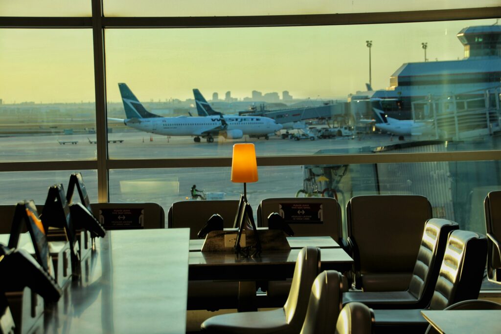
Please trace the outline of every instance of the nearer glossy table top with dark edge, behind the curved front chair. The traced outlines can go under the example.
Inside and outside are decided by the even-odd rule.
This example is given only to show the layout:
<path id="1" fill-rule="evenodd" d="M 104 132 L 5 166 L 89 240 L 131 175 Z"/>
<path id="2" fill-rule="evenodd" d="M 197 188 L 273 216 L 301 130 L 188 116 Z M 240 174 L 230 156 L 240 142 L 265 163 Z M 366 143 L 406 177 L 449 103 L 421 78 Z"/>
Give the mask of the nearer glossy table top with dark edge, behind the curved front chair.
<path id="1" fill-rule="evenodd" d="M 237 257 L 232 252 L 189 252 L 189 279 L 285 279 L 293 276 L 301 249 L 263 251 L 260 257 Z M 353 259 L 342 248 L 320 252 L 321 270 L 345 271 Z"/>

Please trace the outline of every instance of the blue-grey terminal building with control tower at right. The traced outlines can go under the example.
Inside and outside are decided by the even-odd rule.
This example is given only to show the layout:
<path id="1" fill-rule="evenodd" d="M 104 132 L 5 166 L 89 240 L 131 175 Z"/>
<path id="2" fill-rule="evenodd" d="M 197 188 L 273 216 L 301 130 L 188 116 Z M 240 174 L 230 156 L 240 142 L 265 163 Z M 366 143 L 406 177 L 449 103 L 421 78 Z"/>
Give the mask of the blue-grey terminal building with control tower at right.
<path id="1" fill-rule="evenodd" d="M 451 137 L 451 132 L 455 133 L 452 137 L 459 139 L 461 122 L 468 125 L 464 131 L 483 128 L 484 132 L 492 133 L 496 130 L 501 87 L 501 26 L 467 27 L 457 38 L 464 46 L 464 59 L 403 64 L 391 75 L 390 87 L 357 92 L 349 97 L 354 119 L 374 118 L 373 108 L 398 120 L 434 121 L 441 114 L 446 118 L 443 123 L 454 123 L 452 131 L 444 130 L 446 135 L 439 134 L 443 130 L 440 124 L 433 125 L 431 132 L 442 139 Z M 482 117 L 472 122 L 473 115 Z"/>

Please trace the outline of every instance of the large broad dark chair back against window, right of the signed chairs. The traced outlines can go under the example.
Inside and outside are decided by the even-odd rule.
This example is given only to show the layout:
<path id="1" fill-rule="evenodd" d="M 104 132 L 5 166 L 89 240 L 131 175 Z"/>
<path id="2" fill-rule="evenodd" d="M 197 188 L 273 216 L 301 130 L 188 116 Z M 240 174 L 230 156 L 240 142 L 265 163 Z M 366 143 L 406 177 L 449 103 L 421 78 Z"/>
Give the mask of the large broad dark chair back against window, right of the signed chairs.
<path id="1" fill-rule="evenodd" d="M 353 197 L 346 207 L 355 286 L 403 291 L 409 286 L 431 205 L 418 195 Z"/>

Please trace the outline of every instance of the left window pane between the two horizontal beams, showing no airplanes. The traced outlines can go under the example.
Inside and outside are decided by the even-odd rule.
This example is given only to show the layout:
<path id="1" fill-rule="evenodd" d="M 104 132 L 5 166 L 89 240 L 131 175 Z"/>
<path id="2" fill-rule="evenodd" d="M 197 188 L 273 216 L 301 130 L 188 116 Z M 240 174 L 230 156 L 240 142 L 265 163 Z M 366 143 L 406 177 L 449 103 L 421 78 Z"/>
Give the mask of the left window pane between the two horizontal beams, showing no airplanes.
<path id="1" fill-rule="evenodd" d="M 0 30 L 0 161 L 96 157 L 90 29 Z"/>

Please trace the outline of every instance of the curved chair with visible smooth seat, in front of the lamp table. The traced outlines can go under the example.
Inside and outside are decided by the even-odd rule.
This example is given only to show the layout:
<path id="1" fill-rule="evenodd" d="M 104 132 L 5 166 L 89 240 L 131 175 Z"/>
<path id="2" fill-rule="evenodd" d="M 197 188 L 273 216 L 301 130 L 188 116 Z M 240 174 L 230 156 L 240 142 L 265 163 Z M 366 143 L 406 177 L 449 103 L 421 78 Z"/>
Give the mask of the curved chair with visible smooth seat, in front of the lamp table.
<path id="1" fill-rule="evenodd" d="M 216 315 L 205 320 L 201 329 L 210 333 L 298 333 L 303 326 L 313 281 L 320 268 L 320 249 L 305 247 L 299 254 L 289 298 L 271 311 Z"/>

